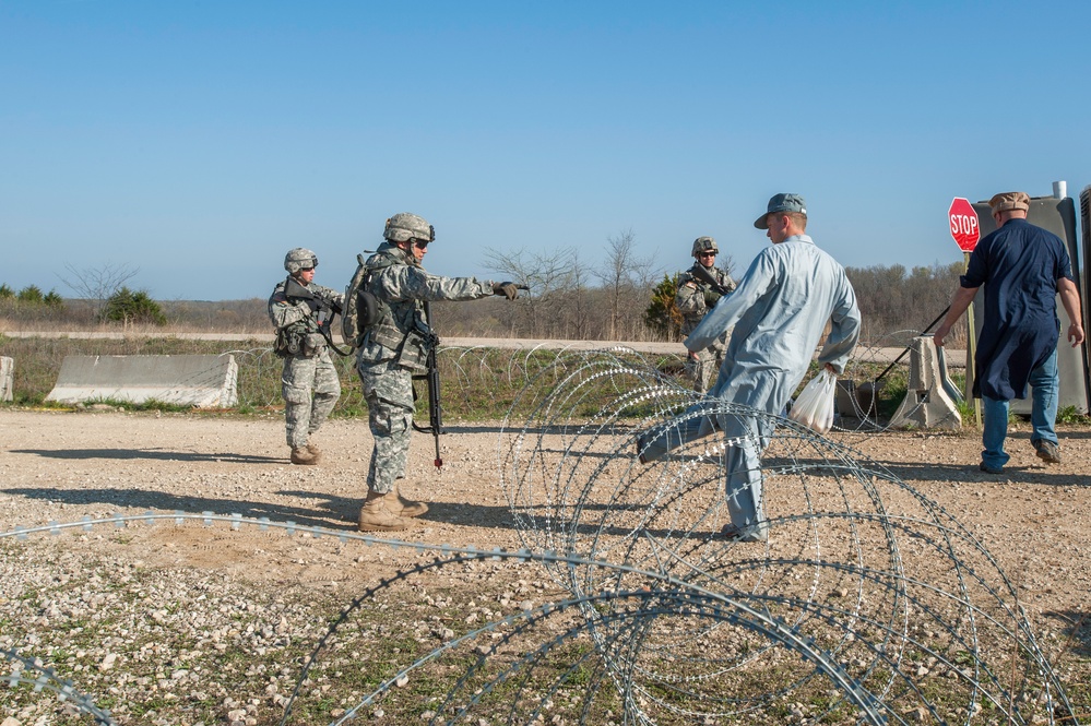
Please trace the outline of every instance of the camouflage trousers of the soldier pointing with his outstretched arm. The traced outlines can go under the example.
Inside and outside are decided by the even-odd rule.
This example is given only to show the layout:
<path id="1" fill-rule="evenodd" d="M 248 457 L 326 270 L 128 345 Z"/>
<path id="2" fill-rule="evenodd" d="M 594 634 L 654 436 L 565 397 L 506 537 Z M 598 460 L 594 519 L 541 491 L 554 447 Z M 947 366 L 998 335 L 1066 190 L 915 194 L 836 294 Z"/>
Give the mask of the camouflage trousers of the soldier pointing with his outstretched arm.
<path id="1" fill-rule="evenodd" d="M 405 476 L 413 436 L 413 373 L 394 360 L 357 366 L 375 449 L 367 486 L 384 495 Z"/>

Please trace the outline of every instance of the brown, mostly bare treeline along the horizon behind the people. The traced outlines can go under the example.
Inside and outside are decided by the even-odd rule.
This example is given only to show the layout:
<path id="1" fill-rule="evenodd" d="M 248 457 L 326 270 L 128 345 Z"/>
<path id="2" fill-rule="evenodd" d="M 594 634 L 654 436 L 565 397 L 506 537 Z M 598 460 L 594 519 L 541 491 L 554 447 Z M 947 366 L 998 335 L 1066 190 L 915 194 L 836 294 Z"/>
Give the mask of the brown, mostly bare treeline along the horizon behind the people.
<path id="1" fill-rule="evenodd" d="M 728 265 L 731 260 L 725 261 Z M 573 341 L 677 341 L 681 318 L 673 308 L 677 273 L 649 279 L 647 270 L 618 264 L 606 275 L 583 267 L 574 253 L 506 258 L 499 276 L 531 290 L 508 301 L 438 302 L 435 326 L 447 337 L 521 337 Z M 921 331 L 950 302 L 962 264 L 905 269 L 902 265 L 847 267 L 863 313 L 862 340 L 880 343 L 899 331 Z M 63 299 L 41 295 L 3 295 L 0 318 L 11 326 L 44 321 L 55 328 L 85 329 L 104 324 L 151 323 L 187 332 L 271 332 L 265 300 L 154 301 L 146 293 L 122 287 L 106 300 Z M 40 290 L 39 290 L 40 295 Z M 46 298 L 50 302 L 45 302 Z M 32 299 L 33 298 L 33 299 Z M 121 302 L 111 306 L 110 301 Z M 154 307 L 150 304 L 154 304 Z M 952 345 L 964 343 L 964 328 L 953 331 Z"/>

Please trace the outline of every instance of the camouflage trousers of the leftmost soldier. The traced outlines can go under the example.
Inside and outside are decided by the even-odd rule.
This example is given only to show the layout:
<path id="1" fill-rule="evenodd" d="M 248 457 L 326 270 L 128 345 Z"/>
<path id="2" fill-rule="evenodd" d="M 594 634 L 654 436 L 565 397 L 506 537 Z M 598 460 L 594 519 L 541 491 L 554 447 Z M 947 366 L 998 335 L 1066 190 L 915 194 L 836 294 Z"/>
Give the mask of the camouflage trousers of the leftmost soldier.
<path id="1" fill-rule="evenodd" d="M 288 445 L 293 449 L 306 447 L 308 437 L 322 427 L 341 397 L 341 379 L 330 352 L 285 358 L 281 395 L 284 396 Z"/>

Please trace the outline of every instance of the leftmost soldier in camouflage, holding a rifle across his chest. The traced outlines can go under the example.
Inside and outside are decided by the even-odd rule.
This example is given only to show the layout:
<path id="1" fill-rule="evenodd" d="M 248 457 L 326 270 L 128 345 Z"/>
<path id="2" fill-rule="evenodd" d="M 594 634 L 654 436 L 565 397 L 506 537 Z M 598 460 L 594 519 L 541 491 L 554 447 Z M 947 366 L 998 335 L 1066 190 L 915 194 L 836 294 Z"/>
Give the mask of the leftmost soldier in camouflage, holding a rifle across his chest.
<path id="1" fill-rule="evenodd" d="M 318 257 L 310 250 L 297 247 L 284 258 L 288 279 L 295 279 L 310 294 L 344 306 L 345 296 L 329 287 L 316 285 L 315 267 Z M 341 380 L 330 358 L 325 337 L 320 332 L 323 316 L 313 300 L 288 297 L 288 279 L 277 283 L 269 298 L 269 319 L 276 328 L 276 355 L 284 358 L 281 373 L 281 395 L 284 396 L 284 420 L 293 464 L 318 464 L 321 451 L 310 443 L 317 431 L 341 397 Z"/>

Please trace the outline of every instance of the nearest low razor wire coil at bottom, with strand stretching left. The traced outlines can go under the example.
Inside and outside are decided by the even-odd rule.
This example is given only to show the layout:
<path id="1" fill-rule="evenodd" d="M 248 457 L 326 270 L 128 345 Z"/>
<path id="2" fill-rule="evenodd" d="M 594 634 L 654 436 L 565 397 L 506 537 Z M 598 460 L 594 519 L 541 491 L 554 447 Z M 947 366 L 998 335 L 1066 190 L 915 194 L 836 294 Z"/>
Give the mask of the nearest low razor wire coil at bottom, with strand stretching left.
<path id="1" fill-rule="evenodd" d="M 83 517 L 0 533 L 0 539 L 159 521 L 176 526 L 195 521 L 210 533 L 215 523 L 227 523 L 232 532 L 280 529 L 289 537 L 403 549 L 424 560 L 346 604 L 301 660 L 295 689 L 283 704 L 282 724 L 315 723 L 297 718 L 313 713 L 315 701 L 320 700 L 307 689 L 309 677 L 319 669 L 348 670 L 353 658 L 339 648 L 339 639 L 366 632 L 373 617 L 367 605 L 422 575 L 483 561 L 542 567 L 552 573 L 597 572 L 602 578 L 594 591 L 497 614 L 481 627 L 448 633 L 444 643 L 426 648 L 424 655 L 407 653 L 401 664 L 394 659 L 372 690 L 328 723 L 347 723 L 366 715 L 369 707 L 381 711 L 382 697 L 404 688 L 411 677 L 426 681 L 432 691 L 439 687 L 442 693 L 424 714 L 427 723 L 497 717 L 501 723 L 534 723 L 542 714 L 560 716 L 554 723 L 581 724 L 606 723 L 612 716 L 617 723 L 644 724 L 675 718 L 752 721 L 779 717 L 788 707 L 785 704 L 798 707 L 814 697 L 828 705 L 813 710 L 808 715 L 813 721 L 908 723 L 906 714 L 920 713 L 940 723 L 969 724 L 987 713 L 1009 723 L 1078 723 L 1011 599 L 1009 583 L 991 569 L 995 563 L 987 557 L 979 563 L 960 562 L 962 585 L 948 592 L 941 578 L 922 582 L 905 571 L 892 578 L 889 570 L 770 552 L 735 552 L 723 558 L 710 578 L 711 567 L 675 568 L 671 573 L 668 568 L 642 569 L 556 551 L 412 543 L 212 512 Z M 897 529 L 920 538 L 921 524 L 902 521 Z M 927 544 L 935 555 L 950 549 L 940 539 L 963 538 L 964 533 L 947 531 Z M 785 576 L 801 564 L 816 570 L 809 582 Z M 762 576 L 742 587 L 737 582 L 724 586 L 727 572 L 737 578 L 752 570 L 763 570 Z M 840 591 L 821 586 L 826 575 L 841 583 Z M 989 575 L 997 576 L 1001 586 L 993 587 Z M 853 592 L 846 578 L 857 584 Z M 762 579 L 768 584 L 758 586 Z M 887 595 L 866 605 L 876 593 Z M 904 602 L 891 607 L 897 596 Z M 589 642 L 594 646 L 573 650 Z M 13 681 L 33 685 L 35 692 L 51 691 L 96 723 L 115 723 L 109 711 L 70 680 L 15 651 L 0 653 L 17 664 L 7 678 L 10 687 Z M 26 670 L 37 675 L 26 677 Z M 835 699 L 829 698 L 831 692 Z M 393 699 L 387 702 L 387 707 L 395 705 Z M 381 712 L 371 715 L 380 717 Z"/>

